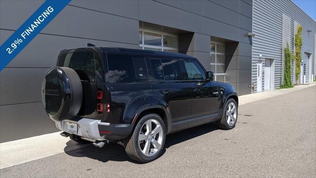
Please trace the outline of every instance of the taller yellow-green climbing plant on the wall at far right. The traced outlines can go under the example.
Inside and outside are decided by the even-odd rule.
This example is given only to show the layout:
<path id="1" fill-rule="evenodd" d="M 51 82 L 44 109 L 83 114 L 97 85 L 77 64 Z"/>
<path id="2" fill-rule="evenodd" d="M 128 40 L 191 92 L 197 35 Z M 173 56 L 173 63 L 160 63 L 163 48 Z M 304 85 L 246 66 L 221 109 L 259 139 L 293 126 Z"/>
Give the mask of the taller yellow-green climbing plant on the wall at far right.
<path id="1" fill-rule="evenodd" d="M 297 28 L 297 33 L 295 34 L 295 78 L 296 78 L 296 83 L 295 85 L 298 85 L 298 78 L 301 74 L 301 55 L 302 55 L 302 26 L 298 26 Z"/>

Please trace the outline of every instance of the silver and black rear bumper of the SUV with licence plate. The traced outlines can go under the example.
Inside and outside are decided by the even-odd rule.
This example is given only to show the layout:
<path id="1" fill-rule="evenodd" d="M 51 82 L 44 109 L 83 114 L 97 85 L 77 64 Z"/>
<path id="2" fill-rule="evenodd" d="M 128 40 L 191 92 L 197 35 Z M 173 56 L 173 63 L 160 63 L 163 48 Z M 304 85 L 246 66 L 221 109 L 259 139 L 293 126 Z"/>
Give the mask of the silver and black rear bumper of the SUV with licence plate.
<path id="1" fill-rule="evenodd" d="M 99 141 L 117 141 L 126 138 L 134 127 L 133 124 L 110 124 L 100 120 L 81 118 L 55 122 L 57 129 L 67 132 L 67 122 L 78 124 L 76 135 Z"/>

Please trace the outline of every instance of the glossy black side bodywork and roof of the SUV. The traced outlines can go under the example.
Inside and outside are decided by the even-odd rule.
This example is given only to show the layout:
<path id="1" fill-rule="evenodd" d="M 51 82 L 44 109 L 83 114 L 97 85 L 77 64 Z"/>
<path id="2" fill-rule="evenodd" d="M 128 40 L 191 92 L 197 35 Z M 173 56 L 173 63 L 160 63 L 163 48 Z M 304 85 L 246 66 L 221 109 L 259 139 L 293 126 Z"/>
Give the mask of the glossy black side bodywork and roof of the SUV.
<path id="1" fill-rule="evenodd" d="M 167 132 L 171 133 L 219 120 L 222 117 L 222 109 L 226 100 L 229 97 L 237 100 L 237 93 L 232 85 L 206 79 L 205 69 L 196 58 L 188 55 L 115 47 L 79 49 L 93 50 L 95 54 L 99 53 L 101 59 L 99 61 L 101 67 L 96 79 L 98 82 L 91 84 L 92 88 L 89 89 L 89 92 L 96 93 L 97 89 L 103 91 L 104 110 L 102 115 L 97 115 L 94 110 L 91 114 L 95 114 L 97 117 L 91 116 L 91 114 L 89 117 L 110 123 L 110 126 L 99 126 L 99 130 L 111 131 L 111 134 L 101 134 L 105 139 L 114 140 L 127 137 L 131 133 L 134 123 L 137 124 L 140 119 L 138 116 L 147 111 L 158 112 L 167 124 Z M 60 55 L 69 51 L 63 50 Z M 116 56 L 118 58 L 114 60 L 113 57 Z M 126 57 L 130 59 L 126 59 Z M 158 71 L 158 73 L 157 69 L 153 71 L 149 67 L 148 59 L 162 61 L 162 65 L 158 68 L 160 70 L 163 68 L 164 71 Z M 126 68 L 126 66 L 122 66 L 125 60 L 133 62 Z M 178 73 L 172 71 L 172 68 L 165 68 L 166 65 L 173 62 L 163 63 L 163 60 L 177 60 L 179 69 L 176 72 L 181 71 L 178 78 L 176 78 Z M 111 64 L 114 61 L 118 63 Z M 119 61 L 121 62 L 119 63 Z M 200 67 L 200 73 L 195 74 L 193 71 L 193 74 L 189 74 L 188 70 L 196 69 L 188 69 L 188 66 L 184 64 L 186 61 L 196 62 L 197 67 Z M 145 66 L 146 71 L 140 72 L 138 69 L 143 69 L 139 67 L 142 65 Z M 130 70 L 133 70 L 134 73 Z M 84 89 L 84 91 L 86 90 Z M 95 94 L 89 96 L 92 97 L 90 102 L 95 105 Z M 84 100 L 87 99 L 84 97 Z M 108 104 L 109 112 L 106 108 Z M 93 108 L 95 107 L 93 106 Z M 88 106 L 85 109 L 89 112 L 93 110 Z M 111 136 L 112 134 L 113 136 Z"/>

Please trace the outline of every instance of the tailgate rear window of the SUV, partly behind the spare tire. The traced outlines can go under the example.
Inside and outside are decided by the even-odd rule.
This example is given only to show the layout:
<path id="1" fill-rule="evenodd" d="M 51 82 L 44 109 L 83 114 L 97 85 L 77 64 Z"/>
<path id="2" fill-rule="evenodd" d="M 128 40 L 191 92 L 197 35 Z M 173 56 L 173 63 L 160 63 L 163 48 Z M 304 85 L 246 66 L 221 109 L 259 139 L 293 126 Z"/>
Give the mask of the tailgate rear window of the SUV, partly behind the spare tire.
<path id="1" fill-rule="evenodd" d="M 95 83 L 95 58 L 91 51 L 75 51 L 65 55 L 64 67 L 74 69 L 82 82 Z"/>

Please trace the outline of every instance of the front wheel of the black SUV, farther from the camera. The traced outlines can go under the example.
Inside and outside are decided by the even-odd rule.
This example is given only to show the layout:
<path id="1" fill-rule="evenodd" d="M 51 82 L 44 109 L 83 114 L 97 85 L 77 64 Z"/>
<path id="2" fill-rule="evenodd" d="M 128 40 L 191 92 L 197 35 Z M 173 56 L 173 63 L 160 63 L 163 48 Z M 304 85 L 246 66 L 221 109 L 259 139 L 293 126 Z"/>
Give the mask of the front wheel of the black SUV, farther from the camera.
<path id="1" fill-rule="evenodd" d="M 238 105 L 235 99 L 230 98 L 225 103 L 221 120 L 218 121 L 219 128 L 224 129 L 224 130 L 233 129 L 236 126 L 237 117 L 238 117 Z"/>

